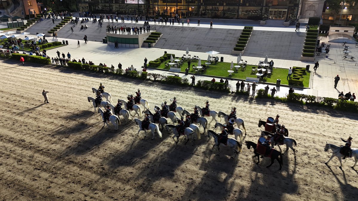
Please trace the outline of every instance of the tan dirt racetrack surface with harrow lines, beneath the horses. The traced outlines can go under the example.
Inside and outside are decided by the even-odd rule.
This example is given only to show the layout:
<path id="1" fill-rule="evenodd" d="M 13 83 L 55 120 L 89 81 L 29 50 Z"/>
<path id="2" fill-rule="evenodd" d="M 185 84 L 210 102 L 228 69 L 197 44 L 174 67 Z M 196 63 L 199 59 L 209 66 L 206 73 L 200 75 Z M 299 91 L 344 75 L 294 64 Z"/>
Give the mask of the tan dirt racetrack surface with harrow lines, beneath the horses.
<path id="1" fill-rule="evenodd" d="M 351 135 L 352 147 L 358 147 L 357 114 L 3 62 L 0 71 L 1 200 L 358 200 L 354 159 L 343 160 L 342 170 L 338 158 L 324 164 L 331 156 L 324 152 L 326 141 L 340 145 L 340 137 Z M 143 131 L 137 135 L 132 119 L 118 131 L 112 124 L 101 129 L 101 117 L 87 101 L 100 82 L 114 103 L 140 88 L 152 111 L 174 96 L 191 112 L 206 100 L 217 112 L 236 106 L 247 128 L 244 141 L 257 142 L 258 121 L 280 114 L 298 143 L 297 157 L 289 150 L 279 171 L 277 161 L 266 168 L 267 157 L 256 165 L 245 144 L 233 159 L 228 147 L 218 155 L 213 138 L 204 135 L 194 146 L 184 145 L 183 136 L 176 145 L 167 131 L 152 140 Z M 49 91 L 48 104 L 43 89 Z M 209 129 L 213 126 L 214 121 Z"/>

